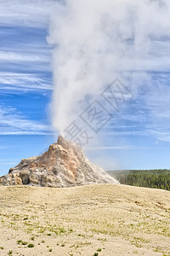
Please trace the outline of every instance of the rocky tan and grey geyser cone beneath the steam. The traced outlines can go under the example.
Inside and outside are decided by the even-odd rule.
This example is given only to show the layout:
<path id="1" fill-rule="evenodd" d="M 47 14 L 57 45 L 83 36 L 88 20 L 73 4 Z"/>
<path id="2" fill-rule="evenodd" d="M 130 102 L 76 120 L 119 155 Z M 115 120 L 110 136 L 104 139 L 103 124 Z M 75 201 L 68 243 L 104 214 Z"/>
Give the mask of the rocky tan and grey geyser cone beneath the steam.
<path id="1" fill-rule="evenodd" d="M 21 160 L 0 184 L 28 184 L 42 187 L 69 187 L 90 183 L 119 183 L 99 166 L 91 163 L 77 144 L 63 137 L 41 156 Z"/>

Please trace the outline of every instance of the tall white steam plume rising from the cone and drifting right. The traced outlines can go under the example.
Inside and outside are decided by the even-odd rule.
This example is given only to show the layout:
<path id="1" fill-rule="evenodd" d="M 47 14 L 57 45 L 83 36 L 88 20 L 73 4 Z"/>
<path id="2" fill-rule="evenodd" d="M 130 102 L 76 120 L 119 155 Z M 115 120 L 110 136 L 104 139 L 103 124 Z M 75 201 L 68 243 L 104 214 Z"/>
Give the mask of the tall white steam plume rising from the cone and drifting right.
<path id="1" fill-rule="evenodd" d="M 54 10 L 54 128 L 62 133 L 81 101 L 127 71 L 161 70 L 156 38 L 170 36 L 169 1 L 68 0 Z M 157 54 L 157 55 L 156 55 Z"/>

